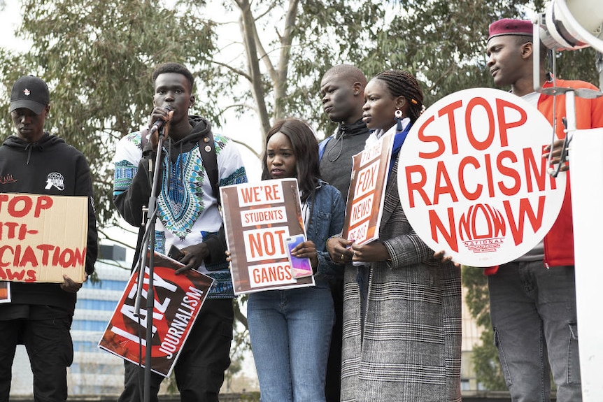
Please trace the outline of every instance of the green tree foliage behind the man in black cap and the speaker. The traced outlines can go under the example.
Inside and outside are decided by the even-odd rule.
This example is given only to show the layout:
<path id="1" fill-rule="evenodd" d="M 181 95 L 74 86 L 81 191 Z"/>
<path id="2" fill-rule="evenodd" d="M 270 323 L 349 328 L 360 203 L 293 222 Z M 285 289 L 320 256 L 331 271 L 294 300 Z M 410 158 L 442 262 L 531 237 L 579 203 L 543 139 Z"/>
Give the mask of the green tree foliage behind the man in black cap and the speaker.
<path id="1" fill-rule="evenodd" d="M 213 52 L 213 25 L 177 10 L 157 12 L 148 0 L 27 0 L 22 10 L 27 13 L 18 34 L 31 49 L 23 55 L 0 53 L 2 81 L 8 91 L 25 74 L 48 82 L 46 129 L 84 152 L 100 225 L 112 224 L 115 141 L 148 119 L 155 66 L 167 60 L 199 65 L 203 78 L 211 71 L 198 55 Z M 1 106 L 6 103 L 3 99 Z M 213 113 L 201 105 L 202 113 Z M 12 131 L 7 120 L 5 133 Z"/>

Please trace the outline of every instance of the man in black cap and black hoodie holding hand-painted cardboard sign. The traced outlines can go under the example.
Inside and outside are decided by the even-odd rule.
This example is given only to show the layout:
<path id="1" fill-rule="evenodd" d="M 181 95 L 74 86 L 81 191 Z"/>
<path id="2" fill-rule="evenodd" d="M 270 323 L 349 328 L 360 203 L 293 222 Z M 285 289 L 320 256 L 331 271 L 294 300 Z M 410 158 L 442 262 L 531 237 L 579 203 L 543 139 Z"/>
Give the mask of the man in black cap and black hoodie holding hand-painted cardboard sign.
<path id="1" fill-rule="evenodd" d="M 92 178 L 84 155 L 44 131 L 50 95 L 40 78 L 24 76 L 15 82 L 9 112 L 17 135 L 8 136 L 0 146 L 0 193 L 87 196 L 85 272 L 92 274 L 98 238 Z M 24 344 L 29 354 L 36 401 L 66 401 L 66 368 L 73 361 L 69 331 L 82 284 L 67 275 L 63 278 L 60 284 L 10 282 L 10 303 L 0 303 L 0 401 L 9 398 L 17 344 Z"/>

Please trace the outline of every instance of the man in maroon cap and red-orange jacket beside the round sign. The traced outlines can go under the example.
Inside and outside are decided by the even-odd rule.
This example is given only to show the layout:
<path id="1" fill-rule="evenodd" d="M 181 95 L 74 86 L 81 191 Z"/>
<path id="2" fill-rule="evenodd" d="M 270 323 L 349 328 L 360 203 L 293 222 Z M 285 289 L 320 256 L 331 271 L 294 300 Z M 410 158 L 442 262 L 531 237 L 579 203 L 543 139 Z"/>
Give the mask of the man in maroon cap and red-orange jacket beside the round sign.
<path id="1" fill-rule="evenodd" d="M 488 68 L 497 86 L 511 86 L 511 92 L 536 106 L 564 138 L 562 118 L 565 96 L 534 92 L 532 43 L 533 25 L 525 20 L 499 20 L 488 32 Z M 597 89 L 588 82 L 555 79 L 541 70 L 541 87 Z M 603 98 L 576 97 L 578 129 L 603 127 Z M 560 161 L 560 143 L 551 152 Z M 567 171 L 564 164 L 560 170 Z M 490 290 L 490 315 L 495 344 L 507 387 L 513 401 L 550 401 L 551 381 L 557 386 L 557 401 L 582 401 L 578 331 L 576 329 L 576 289 L 574 282 L 574 236 L 572 204 L 567 189 L 555 224 L 544 240 L 527 254 L 507 264 L 486 269 Z"/>

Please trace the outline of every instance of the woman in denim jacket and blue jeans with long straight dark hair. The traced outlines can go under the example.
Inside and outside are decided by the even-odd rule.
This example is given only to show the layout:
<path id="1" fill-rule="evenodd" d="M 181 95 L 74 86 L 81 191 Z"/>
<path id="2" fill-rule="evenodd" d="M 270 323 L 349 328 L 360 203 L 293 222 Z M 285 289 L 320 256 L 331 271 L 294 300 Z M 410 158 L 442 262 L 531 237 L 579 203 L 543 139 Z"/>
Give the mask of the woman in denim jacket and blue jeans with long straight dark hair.
<path id="1" fill-rule="evenodd" d="M 247 317 L 262 402 L 324 402 L 334 323 L 329 277 L 343 275 L 325 250 L 341 233 L 339 190 L 320 180 L 318 141 L 299 119 L 280 120 L 267 134 L 262 180 L 297 178 L 307 241 L 292 250 L 309 258 L 315 286 L 249 295 Z"/>

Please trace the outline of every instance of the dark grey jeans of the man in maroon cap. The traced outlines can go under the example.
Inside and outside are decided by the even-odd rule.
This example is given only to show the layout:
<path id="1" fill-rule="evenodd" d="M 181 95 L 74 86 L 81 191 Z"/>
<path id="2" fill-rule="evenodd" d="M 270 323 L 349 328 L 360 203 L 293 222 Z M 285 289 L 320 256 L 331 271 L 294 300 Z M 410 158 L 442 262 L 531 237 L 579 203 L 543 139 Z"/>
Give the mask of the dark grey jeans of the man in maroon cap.
<path id="1" fill-rule="evenodd" d="M 490 315 L 513 402 L 582 401 L 574 266 L 511 262 L 488 276 Z"/>

